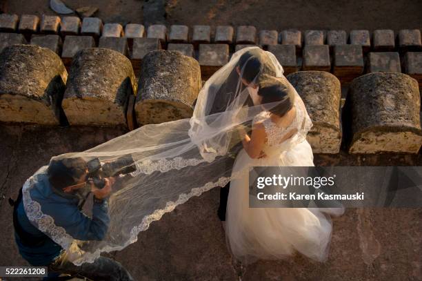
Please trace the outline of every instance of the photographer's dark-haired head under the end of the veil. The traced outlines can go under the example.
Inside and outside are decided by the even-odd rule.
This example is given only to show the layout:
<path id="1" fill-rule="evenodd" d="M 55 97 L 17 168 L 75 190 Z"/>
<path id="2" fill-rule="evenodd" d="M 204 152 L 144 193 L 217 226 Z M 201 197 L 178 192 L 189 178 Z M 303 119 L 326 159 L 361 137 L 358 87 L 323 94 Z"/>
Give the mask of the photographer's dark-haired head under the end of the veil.
<path id="1" fill-rule="evenodd" d="M 48 181 L 61 191 L 66 186 L 77 184 L 76 180 L 85 173 L 86 167 L 86 161 L 81 157 L 52 159 L 47 170 Z"/>

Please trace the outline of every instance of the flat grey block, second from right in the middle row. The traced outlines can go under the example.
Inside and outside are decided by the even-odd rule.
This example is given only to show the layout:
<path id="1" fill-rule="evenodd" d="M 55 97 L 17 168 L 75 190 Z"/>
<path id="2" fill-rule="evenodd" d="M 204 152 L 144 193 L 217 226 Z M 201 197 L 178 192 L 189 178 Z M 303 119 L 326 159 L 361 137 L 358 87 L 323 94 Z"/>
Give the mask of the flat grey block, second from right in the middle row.
<path id="1" fill-rule="evenodd" d="M 370 52 L 368 57 L 368 72 L 401 72 L 398 52 Z"/>

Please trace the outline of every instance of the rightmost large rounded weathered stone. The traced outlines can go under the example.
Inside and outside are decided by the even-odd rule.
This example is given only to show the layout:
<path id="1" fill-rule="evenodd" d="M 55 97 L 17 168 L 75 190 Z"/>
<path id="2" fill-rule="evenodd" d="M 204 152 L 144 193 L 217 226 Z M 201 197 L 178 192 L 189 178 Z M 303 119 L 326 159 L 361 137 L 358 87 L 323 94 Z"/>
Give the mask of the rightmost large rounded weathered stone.
<path id="1" fill-rule="evenodd" d="M 422 144 L 421 97 L 412 77 L 376 72 L 354 79 L 346 105 L 349 153 L 418 153 Z"/>

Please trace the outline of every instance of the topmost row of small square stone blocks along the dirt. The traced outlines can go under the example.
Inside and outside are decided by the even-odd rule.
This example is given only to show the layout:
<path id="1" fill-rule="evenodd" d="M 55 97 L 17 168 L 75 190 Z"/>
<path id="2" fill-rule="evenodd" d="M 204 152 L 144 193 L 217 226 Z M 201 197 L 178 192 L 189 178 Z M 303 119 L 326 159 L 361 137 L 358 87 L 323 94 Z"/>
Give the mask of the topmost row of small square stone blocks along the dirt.
<path id="1" fill-rule="evenodd" d="M 57 17 L 43 15 L 41 21 L 39 17 L 32 14 L 24 14 L 19 17 L 16 14 L 0 14 L 0 31 L 19 31 L 23 34 L 33 34 L 37 32 L 48 34 L 66 35 L 92 35 L 100 37 L 144 37 L 145 28 L 141 24 L 129 23 L 123 26 L 119 23 L 106 23 L 97 17 L 86 17 L 81 20 L 79 17 Z M 350 42 L 352 45 L 363 46 L 363 49 L 394 50 L 396 43 L 402 50 L 421 50 L 420 30 L 400 30 L 399 35 L 394 36 L 393 30 L 374 30 L 372 38 L 368 30 L 352 30 L 348 39 L 345 30 L 306 30 L 303 34 L 300 30 L 260 30 L 254 26 L 238 26 L 236 33 L 232 26 L 217 26 L 215 30 L 211 26 L 193 26 L 192 30 L 188 26 L 172 25 L 170 30 L 164 25 L 156 24 L 148 27 L 146 32 L 148 38 L 157 38 L 161 42 L 188 43 L 194 46 L 200 43 L 237 43 L 255 44 L 260 46 L 293 45 L 301 49 L 302 45 L 324 45 L 328 46 L 345 45 Z M 212 34 L 214 39 L 212 40 Z"/>

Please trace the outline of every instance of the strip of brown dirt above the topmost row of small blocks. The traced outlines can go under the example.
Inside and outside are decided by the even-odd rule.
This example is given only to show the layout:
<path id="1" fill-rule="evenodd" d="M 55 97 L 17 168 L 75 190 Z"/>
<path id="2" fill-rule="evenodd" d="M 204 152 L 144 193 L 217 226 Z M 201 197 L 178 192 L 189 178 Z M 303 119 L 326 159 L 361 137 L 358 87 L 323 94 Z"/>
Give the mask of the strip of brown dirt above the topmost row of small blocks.
<path id="1" fill-rule="evenodd" d="M 49 0 L 8 1 L 8 12 L 54 14 Z M 70 8 L 97 6 L 105 22 L 141 23 L 141 0 L 63 0 Z M 157 1 L 157 0 L 150 0 Z M 253 25 L 258 29 L 392 29 L 422 28 L 420 0 L 168 0 L 168 24 Z"/>

